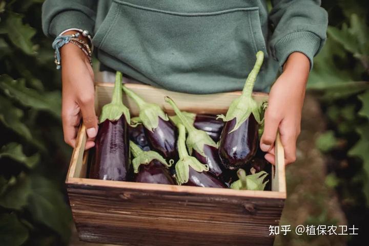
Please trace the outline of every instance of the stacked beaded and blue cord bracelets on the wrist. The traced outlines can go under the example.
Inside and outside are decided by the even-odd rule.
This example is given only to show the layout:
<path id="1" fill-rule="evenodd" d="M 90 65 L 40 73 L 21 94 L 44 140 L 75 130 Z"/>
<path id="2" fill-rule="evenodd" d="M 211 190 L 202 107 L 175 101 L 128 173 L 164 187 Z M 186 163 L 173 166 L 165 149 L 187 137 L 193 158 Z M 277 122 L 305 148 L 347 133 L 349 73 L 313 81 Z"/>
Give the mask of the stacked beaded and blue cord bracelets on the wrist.
<path id="1" fill-rule="evenodd" d="M 68 30 L 66 30 L 68 31 Z M 64 32 L 66 32 L 64 31 Z M 77 30 L 83 33 L 83 36 L 88 37 L 91 40 L 91 36 L 88 34 L 87 31 L 82 31 L 82 30 Z M 63 33 L 64 33 L 63 32 Z M 56 64 L 56 69 L 60 69 L 60 48 L 64 46 L 64 44 L 67 43 L 73 43 L 75 46 L 77 46 L 79 49 L 81 49 L 85 55 L 87 56 L 87 58 L 90 61 L 90 64 L 92 66 L 92 59 L 91 59 L 91 54 L 92 54 L 92 50 L 89 46 L 88 43 L 86 43 L 84 40 L 79 39 L 79 35 L 80 33 L 77 32 L 75 34 L 72 35 L 62 35 L 63 33 L 61 33 L 59 36 L 57 36 L 55 38 L 55 40 L 52 43 L 52 48 L 55 49 L 55 53 L 54 53 L 54 57 L 55 57 L 55 64 Z"/>

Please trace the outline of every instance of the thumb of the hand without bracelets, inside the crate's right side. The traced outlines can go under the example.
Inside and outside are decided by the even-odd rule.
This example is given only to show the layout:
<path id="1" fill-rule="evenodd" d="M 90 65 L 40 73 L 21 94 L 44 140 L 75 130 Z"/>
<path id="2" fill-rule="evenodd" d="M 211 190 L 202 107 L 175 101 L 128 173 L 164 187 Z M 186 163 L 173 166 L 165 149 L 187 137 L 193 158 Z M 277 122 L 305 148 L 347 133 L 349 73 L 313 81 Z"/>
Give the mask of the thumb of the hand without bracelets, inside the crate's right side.
<path id="1" fill-rule="evenodd" d="M 274 145 L 277 130 L 280 120 L 277 117 L 273 117 L 268 114 L 268 109 L 265 112 L 264 118 L 264 132 L 260 140 L 260 149 L 264 152 L 268 152 Z"/>

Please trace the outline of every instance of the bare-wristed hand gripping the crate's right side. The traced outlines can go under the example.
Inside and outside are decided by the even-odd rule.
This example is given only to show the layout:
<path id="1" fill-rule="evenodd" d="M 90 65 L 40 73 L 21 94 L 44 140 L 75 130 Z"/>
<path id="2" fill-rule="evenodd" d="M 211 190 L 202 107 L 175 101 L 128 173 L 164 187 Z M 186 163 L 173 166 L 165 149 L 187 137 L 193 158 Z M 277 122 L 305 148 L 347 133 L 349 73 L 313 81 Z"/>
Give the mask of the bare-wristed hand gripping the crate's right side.
<path id="1" fill-rule="evenodd" d="M 264 132 L 260 148 L 267 152 L 265 159 L 275 164 L 275 139 L 277 130 L 284 147 L 284 162 L 296 161 L 296 141 L 300 134 L 301 111 L 306 82 L 310 72 L 310 60 L 299 52 L 286 60 L 283 73 L 273 84 L 265 111 Z"/>

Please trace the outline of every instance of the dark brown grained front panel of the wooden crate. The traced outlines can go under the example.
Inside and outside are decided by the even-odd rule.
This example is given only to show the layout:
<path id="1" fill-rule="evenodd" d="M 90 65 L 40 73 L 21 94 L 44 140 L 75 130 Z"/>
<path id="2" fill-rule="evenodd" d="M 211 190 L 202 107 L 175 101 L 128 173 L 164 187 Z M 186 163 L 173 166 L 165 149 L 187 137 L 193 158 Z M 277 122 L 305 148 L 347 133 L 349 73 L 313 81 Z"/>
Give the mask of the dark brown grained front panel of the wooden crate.
<path id="1" fill-rule="evenodd" d="M 68 185 L 79 237 L 132 246 L 272 245 L 284 200 Z"/>

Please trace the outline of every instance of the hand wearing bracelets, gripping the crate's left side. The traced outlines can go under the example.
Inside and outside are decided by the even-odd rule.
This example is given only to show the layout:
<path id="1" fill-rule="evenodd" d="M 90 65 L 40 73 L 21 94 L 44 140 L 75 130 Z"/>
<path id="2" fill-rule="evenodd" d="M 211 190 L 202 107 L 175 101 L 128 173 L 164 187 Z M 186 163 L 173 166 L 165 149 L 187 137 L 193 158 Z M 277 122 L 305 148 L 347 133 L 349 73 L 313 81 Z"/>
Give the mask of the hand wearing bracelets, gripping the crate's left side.
<path id="1" fill-rule="evenodd" d="M 75 32 L 68 32 L 66 35 L 73 33 Z M 89 149 L 95 146 L 94 139 L 97 134 L 93 70 L 85 53 L 73 43 L 61 47 L 60 54 L 64 140 L 75 147 L 78 127 L 83 119 L 88 136 L 86 149 Z"/>

